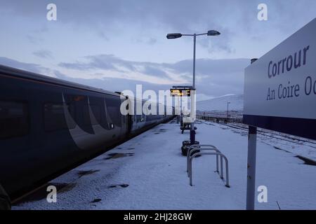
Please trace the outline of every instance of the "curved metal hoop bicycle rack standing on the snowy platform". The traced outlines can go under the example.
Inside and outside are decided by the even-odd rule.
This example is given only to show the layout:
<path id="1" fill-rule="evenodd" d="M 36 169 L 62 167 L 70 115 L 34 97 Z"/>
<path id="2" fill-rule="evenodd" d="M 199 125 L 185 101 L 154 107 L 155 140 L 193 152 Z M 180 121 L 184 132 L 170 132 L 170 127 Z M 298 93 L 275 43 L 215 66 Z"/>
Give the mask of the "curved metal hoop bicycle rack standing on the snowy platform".
<path id="1" fill-rule="evenodd" d="M 199 151 L 199 152 L 197 152 Z M 204 151 L 204 152 L 202 152 Z M 207 151 L 215 151 L 214 153 L 210 153 Z M 197 152 L 197 153 L 195 153 Z M 194 153 L 194 154 L 193 154 Z M 192 160 L 198 155 L 216 155 L 216 172 L 218 172 L 218 156 L 220 156 L 220 179 L 224 179 L 223 177 L 223 158 L 225 160 L 225 172 L 226 172 L 226 187 L 230 188 L 229 183 L 229 174 L 228 174 L 228 159 L 221 153 L 218 148 L 212 145 L 192 145 L 189 147 L 187 152 L 187 175 L 190 178 L 190 186 L 192 186 Z"/>

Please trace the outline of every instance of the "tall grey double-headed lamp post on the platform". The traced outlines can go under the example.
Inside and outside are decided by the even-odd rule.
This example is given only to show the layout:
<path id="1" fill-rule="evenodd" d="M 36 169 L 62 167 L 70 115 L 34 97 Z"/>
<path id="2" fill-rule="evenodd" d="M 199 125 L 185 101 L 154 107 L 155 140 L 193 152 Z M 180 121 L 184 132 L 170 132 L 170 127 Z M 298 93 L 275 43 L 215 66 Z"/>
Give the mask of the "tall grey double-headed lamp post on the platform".
<path id="1" fill-rule="evenodd" d="M 196 54 L 196 46 L 197 46 L 197 36 L 203 36 L 203 35 L 207 35 L 207 36 L 218 36 L 220 35 L 219 31 L 216 30 L 209 30 L 207 33 L 204 34 L 167 34 L 166 38 L 168 39 L 176 39 L 176 38 L 180 38 L 182 36 L 193 36 L 193 85 L 192 85 L 192 89 L 194 94 L 191 95 L 191 118 L 193 118 L 192 113 L 193 111 L 195 111 L 195 54 Z M 195 144 L 195 124 L 194 124 L 194 120 L 192 120 L 191 123 L 191 130 L 190 130 L 190 141 L 191 144 Z"/>

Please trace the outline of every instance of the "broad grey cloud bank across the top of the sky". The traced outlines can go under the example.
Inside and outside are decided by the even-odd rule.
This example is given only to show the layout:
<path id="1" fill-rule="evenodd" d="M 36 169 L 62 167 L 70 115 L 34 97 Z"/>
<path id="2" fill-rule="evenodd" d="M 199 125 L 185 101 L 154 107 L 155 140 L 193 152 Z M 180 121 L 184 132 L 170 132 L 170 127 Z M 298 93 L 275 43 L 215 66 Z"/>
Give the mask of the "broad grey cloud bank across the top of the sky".
<path id="1" fill-rule="evenodd" d="M 46 21 L 48 3 L 51 1 L 1 1 L 0 10 L 24 18 L 23 25 L 33 29 L 40 27 L 32 29 L 33 34 L 27 34 L 34 44 L 42 42 L 45 36 L 40 36 L 39 32 L 51 31 L 60 25 L 70 31 L 94 33 L 103 41 L 113 41 L 117 36 L 135 40 L 137 36 L 144 45 L 161 43 L 162 32 L 199 33 L 218 29 L 222 33 L 219 38 L 201 38 L 197 44 L 210 53 L 224 52 L 226 55 L 242 51 L 238 43 L 242 40 L 258 45 L 263 42 L 260 41 L 263 36 L 266 42 L 263 45 L 270 42 L 275 45 L 273 40 L 286 38 L 315 18 L 316 7 L 315 0 L 265 0 L 269 20 L 259 22 L 257 6 L 261 0 L 91 0 L 80 3 L 77 0 L 54 0 L 58 7 L 58 22 L 54 24 Z M 273 32 L 277 33 L 276 37 L 267 40 Z"/>

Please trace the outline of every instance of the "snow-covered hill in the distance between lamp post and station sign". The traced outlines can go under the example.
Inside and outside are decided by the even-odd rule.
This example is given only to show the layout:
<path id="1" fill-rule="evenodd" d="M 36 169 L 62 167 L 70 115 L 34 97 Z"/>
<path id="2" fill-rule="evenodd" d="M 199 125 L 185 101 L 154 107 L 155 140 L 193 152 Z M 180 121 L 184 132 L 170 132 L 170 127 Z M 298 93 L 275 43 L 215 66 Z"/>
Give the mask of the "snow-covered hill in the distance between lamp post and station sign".
<path id="1" fill-rule="evenodd" d="M 197 102 L 197 111 L 227 111 L 227 103 L 230 111 L 244 110 L 244 95 L 230 94 Z"/>

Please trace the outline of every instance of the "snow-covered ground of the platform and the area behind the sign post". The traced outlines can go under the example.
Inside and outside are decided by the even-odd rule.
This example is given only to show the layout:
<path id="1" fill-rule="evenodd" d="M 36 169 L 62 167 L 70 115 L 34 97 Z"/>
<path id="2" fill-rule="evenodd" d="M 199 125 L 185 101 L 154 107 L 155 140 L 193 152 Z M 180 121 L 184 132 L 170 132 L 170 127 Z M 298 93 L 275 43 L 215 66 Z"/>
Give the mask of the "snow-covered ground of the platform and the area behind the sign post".
<path id="1" fill-rule="evenodd" d="M 180 134 L 173 122 L 51 181 L 63 186 L 57 203 L 46 202 L 45 188 L 29 197 L 34 201 L 13 209 L 244 209 L 246 132 L 205 121 L 197 122 L 197 128 L 201 144 L 213 144 L 228 157 L 231 188 L 214 172 L 215 158 L 210 155 L 195 159 L 194 186 L 189 185 L 186 158 L 180 154 L 189 133 Z M 316 158 L 315 147 L 259 134 L 256 186 L 268 187 L 268 203 L 256 202 L 256 209 L 316 209 L 316 167 L 295 157 L 305 152 Z"/>

